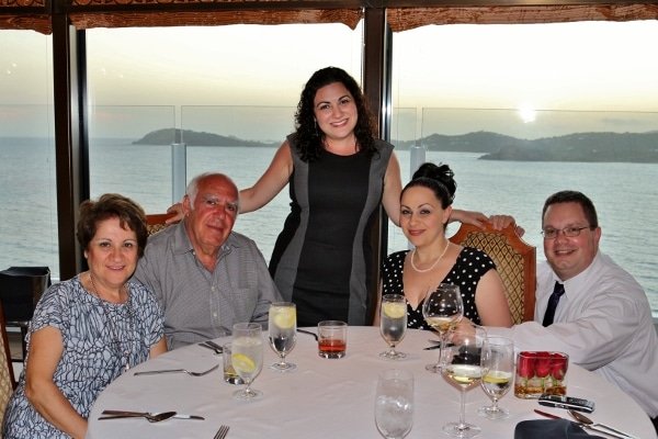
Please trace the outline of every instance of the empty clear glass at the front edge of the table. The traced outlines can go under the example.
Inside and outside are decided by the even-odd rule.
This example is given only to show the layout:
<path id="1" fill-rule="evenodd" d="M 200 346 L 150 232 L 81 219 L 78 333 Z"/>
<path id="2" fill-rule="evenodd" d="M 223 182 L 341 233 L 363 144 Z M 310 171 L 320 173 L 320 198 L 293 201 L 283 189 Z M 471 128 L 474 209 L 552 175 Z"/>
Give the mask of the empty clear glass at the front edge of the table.
<path id="1" fill-rule="evenodd" d="M 413 425 L 413 374 L 385 370 L 377 379 L 375 423 L 386 439 L 402 439 Z"/>

